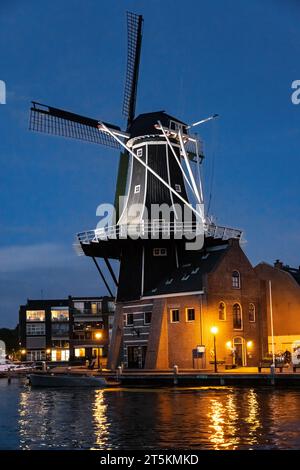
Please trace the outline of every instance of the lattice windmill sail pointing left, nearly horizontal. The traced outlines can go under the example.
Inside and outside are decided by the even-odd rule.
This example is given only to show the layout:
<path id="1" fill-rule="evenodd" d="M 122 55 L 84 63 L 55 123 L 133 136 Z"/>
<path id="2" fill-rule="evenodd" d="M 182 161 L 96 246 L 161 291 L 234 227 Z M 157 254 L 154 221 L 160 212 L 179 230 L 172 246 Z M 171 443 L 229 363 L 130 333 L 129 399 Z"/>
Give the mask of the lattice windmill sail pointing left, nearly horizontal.
<path id="1" fill-rule="evenodd" d="M 53 108 L 32 102 L 30 108 L 29 129 L 46 134 L 71 137 L 108 147 L 120 148 L 118 142 L 105 132 L 98 129 L 96 119 L 80 116 L 62 109 Z M 110 129 L 119 131 L 113 124 L 106 124 Z"/>

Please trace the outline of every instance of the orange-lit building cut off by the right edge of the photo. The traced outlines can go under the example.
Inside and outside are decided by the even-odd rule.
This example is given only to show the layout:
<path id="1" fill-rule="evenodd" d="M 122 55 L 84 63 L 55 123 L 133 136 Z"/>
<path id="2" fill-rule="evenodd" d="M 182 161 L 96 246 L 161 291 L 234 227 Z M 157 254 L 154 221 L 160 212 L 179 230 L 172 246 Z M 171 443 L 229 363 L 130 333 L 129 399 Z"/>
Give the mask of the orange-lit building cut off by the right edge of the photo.
<path id="1" fill-rule="evenodd" d="M 266 336 L 269 352 L 272 351 L 271 311 L 272 301 L 275 352 L 289 351 L 300 347 L 300 269 L 284 265 L 277 260 L 274 266 L 259 263 L 255 267 L 257 276 L 264 282 Z M 271 281 L 271 296 L 270 283 Z"/>

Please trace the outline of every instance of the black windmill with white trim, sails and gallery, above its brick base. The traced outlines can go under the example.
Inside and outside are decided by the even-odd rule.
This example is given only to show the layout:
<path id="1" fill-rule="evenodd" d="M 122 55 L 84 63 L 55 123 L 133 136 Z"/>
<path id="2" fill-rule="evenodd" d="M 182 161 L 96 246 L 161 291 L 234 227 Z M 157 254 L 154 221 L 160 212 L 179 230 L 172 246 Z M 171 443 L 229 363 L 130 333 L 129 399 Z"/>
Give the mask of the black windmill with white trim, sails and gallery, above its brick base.
<path id="1" fill-rule="evenodd" d="M 117 286 L 117 300 L 131 301 L 147 293 L 155 293 L 159 282 L 179 269 L 183 263 L 197 259 L 197 252 L 189 252 L 186 242 L 196 236 L 201 213 L 190 203 L 187 189 L 203 203 L 202 190 L 193 178 L 192 161 L 202 161 L 200 143 L 189 135 L 189 127 L 164 111 L 145 113 L 135 117 L 137 83 L 142 44 L 143 18 L 127 14 L 128 58 L 123 114 L 127 129 L 57 108 L 33 102 L 30 129 L 64 137 L 77 138 L 121 149 L 115 193 L 117 218 L 105 229 L 78 234 L 78 242 L 85 255 L 93 258 L 103 276 L 96 258 L 104 259 Z M 184 161 L 186 171 L 183 169 Z M 124 196 L 119 205 L 120 196 Z M 152 213 L 153 205 L 165 204 L 170 218 Z M 136 206 L 140 211 L 131 210 Z M 180 214 L 179 214 L 180 213 Z M 182 223 L 185 214 L 187 223 Z M 240 237 L 240 231 L 204 224 L 207 243 L 211 239 Z M 227 231 L 227 232 L 226 232 Z M 132 233 L 134 232 L 134 233 Z M 226 232 L 226 234 L 225 234 Z M 119 279 L 109 260 L 120 261 Z"/>

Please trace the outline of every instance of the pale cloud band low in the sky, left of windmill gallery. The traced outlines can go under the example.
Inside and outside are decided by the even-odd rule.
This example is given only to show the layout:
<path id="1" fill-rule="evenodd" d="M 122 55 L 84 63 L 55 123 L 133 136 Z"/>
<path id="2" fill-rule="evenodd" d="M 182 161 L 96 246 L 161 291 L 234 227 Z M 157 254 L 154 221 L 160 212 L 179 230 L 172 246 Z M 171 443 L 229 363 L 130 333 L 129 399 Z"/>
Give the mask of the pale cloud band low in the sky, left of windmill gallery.
<path id="1" fill-rule="evenodd" d="M 37 268 L 60 268 L 76 263 L 71 246 L 56 243 L 12 245 L 0 248 L 0 273 L 28 271 Z"/>

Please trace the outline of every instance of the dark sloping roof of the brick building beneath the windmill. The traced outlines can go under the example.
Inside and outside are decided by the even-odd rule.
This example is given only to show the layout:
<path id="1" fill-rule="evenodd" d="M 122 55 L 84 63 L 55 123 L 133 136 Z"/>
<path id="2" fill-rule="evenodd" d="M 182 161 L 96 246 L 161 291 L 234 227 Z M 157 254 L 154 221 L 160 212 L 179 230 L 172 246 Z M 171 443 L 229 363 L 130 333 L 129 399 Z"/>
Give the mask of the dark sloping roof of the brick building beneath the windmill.
<path id="1" fill-rule="evenodd" d="M 227 249 L 228 245 L 220 245 L 203 250 L 200 256 L 197 257 L 196 262 L 179 266 L 154 289 L 145 292 L 143 297 L 199 292 L 203 290 L 203 276 L 215 269 Z"/>

